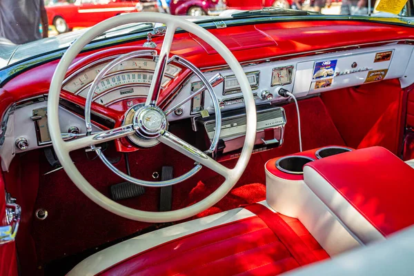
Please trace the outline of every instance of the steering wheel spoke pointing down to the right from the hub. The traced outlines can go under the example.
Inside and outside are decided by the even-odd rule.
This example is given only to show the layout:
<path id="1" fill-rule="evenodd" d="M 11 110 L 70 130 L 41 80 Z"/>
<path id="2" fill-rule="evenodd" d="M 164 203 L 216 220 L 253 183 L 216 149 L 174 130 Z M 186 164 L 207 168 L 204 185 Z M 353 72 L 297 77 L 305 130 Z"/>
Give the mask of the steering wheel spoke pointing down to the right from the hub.
<path id="1" fill-rule="evenodd" d="M 190 157 L 197 163 L 204 165 L 207 168 L 210 168 L 210 170 L 214 170 L 226 179 L 230 177 L 229 168 L 226 168 L 225 166 L 219 164 L 217 161 L 210 158 L 204 152 L 188 144 L 183 139 L 180 139 L 179 137 L 173 135 L 171 132 L 165 131 L 160 137 L 158 137 L 158 140 L 161 141 L 161 143 L 166 144 L 171 148 L 174 148 L 183 155 Z"/>

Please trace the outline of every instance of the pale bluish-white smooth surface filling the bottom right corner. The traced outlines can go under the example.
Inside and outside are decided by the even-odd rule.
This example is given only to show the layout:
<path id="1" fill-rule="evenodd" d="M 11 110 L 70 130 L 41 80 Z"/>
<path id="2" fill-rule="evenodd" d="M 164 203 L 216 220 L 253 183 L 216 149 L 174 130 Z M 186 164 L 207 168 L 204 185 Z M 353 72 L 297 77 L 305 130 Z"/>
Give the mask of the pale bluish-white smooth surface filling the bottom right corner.
<path id="1" fill-rule="evenodd" d="M 292 270 L 289 276 L 408 276 L 414 273 L 414 226 L 386 241 L 344 253 L 338 257 Z"/>

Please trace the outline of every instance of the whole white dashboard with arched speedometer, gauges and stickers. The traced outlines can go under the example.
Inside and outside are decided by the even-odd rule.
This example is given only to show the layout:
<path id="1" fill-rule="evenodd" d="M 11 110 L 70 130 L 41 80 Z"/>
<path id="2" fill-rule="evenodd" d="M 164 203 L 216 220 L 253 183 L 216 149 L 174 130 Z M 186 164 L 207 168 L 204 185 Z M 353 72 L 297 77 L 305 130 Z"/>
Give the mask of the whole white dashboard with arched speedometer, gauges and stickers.
<path id="1" fill-rule="evenodd" d="M 372 81 L 383 79 L 404 79 L 409 70 L 409 64 L 414 63 L 413 46 L 402 43 L 388 43 L 384 46 L 343 50 L 293 59 L 258 59 L 244 63 L 244 71 L 252 88 L 255 102 L 258 107 L 257 150 L 266 150 L 271 146 L 281 146 L 284 140 L 284 125 L 286 116 L 283 108 L 277 108 L 285 98 L 279 95 L 281 88 L 288 90 L 297 98 L 310 97 L 329 90 L 359 86 Z M 62 89 L 70 99 L 85 99 L 92 81 L 99 72 L 117 55 L 110 55 L 97 61 L 80 66 L 66 77 Z M 411 57 L 408 59 L 407 57 Z M 148 95 L 150 83 L 155 70 L 155 61 L 150 58 L 130 59 L 120 63 L 102 79 L 94 91 L 92 101 L 99 110 L 93 110 L 95 117 L 110 121 L 101 110 L 117 110 L 125 113 L 136 104 L 136 99 L 145 99 Z M 221 153 L 230 152 L 231 157 L 237 157 L 237 148 L 242 146 L 245 128 L 244 99 L 239 89 L 239 83 L 233 72 L 226 67 L 217 66 L 202 68 L 204 75 L 210 79 L 219 73 L 224 81 L 215 86 L 214 92 L 219 99 L 219 107 L 223 117 L 221 132 Z M 403 83 L 403 81 L 402 81 Z M 203 85 L 194 74 L 179 64 L 170 63 L 162 81 L 162 87 L 170 93 L 170 99 L 165 101 L 164 108 L 189 97 Z M 63 99 L 66 98 L 63 94 Z M 75 97 L 75 98 L 73 98 Z M 0 157 L 3 170 L 10 166 L 12 157 L 25 150 L 33 150 L 50 146 L 48 137 L 46 103 L 47 97 L 39 97 L 39 101 L 16 103 L 7 118 L 7 131 L 3 135 L 3 146 L 0 148 Z M 70 102 L 68 99 L 68 102 Z M 75 104 L 79 107 L 79 103 Z M 81 106 L 80 106 L 81 107 Z M 79 108 L 78 108 L 79 109 Z M 61 107 L 61 131 L 66 135 L 70 132 L 86 132 L 80 111 L 74 112 L 67 106 Z M 273 117 L 269 117 L 272 115 Z M 10 119 L 11 118 L 11 119 Z M 191 119 L 195 130 L 204 145 L 208 148 L 208 141 L 212 139 L 214 128 L 214 108 L 208 93 L 193 97 L 175 112 L 168 115 L 168 121 Z M 260 121 L 259 121 L 260 120 Z M 238 124 L 238 125 L 237 125 Z M 112 125 L 112 127 L 115 124 Z M 273 128 L 271 137 L 264 139 L 265 130 Z M 101 124 L 95 124 L 94 130 L 101 130 Z M 206 138 L 207 137 L 207 138 Z M 17 140 L 24 138 L 28 142 L 27 148 L 16 146 Z M 224 145 L 224 146 L 223 146 Z M 263 146 L 264 145 L 264 146 Z M 236 152 L 236 153 L 235 153 Z"/>

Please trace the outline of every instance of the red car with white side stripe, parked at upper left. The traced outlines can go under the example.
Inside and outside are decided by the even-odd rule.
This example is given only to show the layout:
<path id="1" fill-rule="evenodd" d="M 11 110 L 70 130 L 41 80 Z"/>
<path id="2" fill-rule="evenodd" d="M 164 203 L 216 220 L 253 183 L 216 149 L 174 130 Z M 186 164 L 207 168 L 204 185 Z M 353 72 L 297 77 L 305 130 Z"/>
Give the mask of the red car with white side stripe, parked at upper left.
<path id="1" fill-rule="evenodd" d="M 49 25 L 59 33 L 92 27 L 115 15 L 141 10 L 139 0 L 58 0 L 46 6 Z"/>

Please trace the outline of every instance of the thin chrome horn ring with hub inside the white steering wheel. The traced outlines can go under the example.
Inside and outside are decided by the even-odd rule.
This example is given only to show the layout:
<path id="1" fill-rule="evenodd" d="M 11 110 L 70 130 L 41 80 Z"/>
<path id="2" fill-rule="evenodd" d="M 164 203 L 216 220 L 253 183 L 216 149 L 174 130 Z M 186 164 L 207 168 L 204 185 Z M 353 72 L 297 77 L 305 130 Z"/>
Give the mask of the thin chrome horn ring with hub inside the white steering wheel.
<path id="1" fill-rule="evenodd" d="M 204 86 L 200 88 L 199 91 L 193 93 L 193 95 L 191 95 L 192 97 L 188 97 L 186 101 L 189 101 L 190 99 L 198 95 L 199 92 L 203 90 L 208 90 L 209 95 L 213 101 L 213 106 L 215 109 L 215 118 L 216 118 L 216 121 L 215 121 L 216 131 L 213 137 L 213 141 L 210 145 L 210 148 L 208 148 L 206 152 L 201 152 L 195 147 L 190 148 L 188 144 L 187 145 L 181 144 L 181 147 L 190 149 L 190 151 L 193 152 L 193 154 L 201 157 L 202 159 L 205 159 L 204 156 L 207 156 L 208 154 L 215 152 L 215 149 L 217 148 L 217 144 L 219 141 L 220 130 L 221 130 L 221 112 L 219 108 L 219 101 L 215 95 L 213 86 L 210 84 L 210 81 L 208 81 L 208 79 L 204 77 L 204 74 L 197 68 L 197 66 L 195 66 L 193 63 L 190 63 L 190 61 L 183 59 L 181 57 L 178 57 L 176 55 L 171 57 L 170 59 L 164 58 L 163 60 L 161 60 L 161 54 L 157 56 L 156 50 L 137 50 L 134 52 L 130 52 L 125 55 L 121 55 L 117 57 L 116 59 L 108 63 L 104 68 L 102 68 L 102 70 L 98 73 L 97 77 L 95 77 L 94 81 L 92 81 L 92 84 L 88 90 L 88 95 L 86 96 L 85 124 L 86 124 L 86 129 L 88 130 L 87 135 L 90 135 L 90 131 L 92 131 L 92 122 L 91 122 L 90 112 L 91 112 L 91 107 L 92 107 L 92 101 L 94 99 L 94 93 L 95 93 L 95 90 L 97 89 L 98 83 L 101 83 L 102 79 L 108 74 L 108 72 L 110 72 L 112 68 L 115 68 L 116 66 L 118 66 L 119 63 L 122 63 L 124 61 L 127 61 L 128 59 L 132 59 L 136 57 L 148 57 L 148 56 L 152 57 L 152 59 L 154 60 L 158 60 L 156 70 L 162 71 L 161 74 L 159 75 L 154 73 L 154 77 L 152 77 L 151 88 L 152 86 L 156 87 L 154 88 L 155 90 L 157 90 L 157 91 L 154 91 L 155 93 L 159 94 L 159 90 L 161 89 L 161 86 L 159 85 L 157 86 L 157 84 L 154 84 L 154 83 L 162 83 L 162 79 L 164 78 L 164 70 L 162 68 L 159 69 L 159 63 L 162 63 L 163 60 L 164 60 L 164 64 L 161 64 L 161 66 L 164 66 L 164 68 L 171 62 L 177 62 L 181 64 L 181 66 L 185 66 L 186 68 L 189 68 L 190 70 L 192 70 L 195 73 L 195 75 L 199 77 L 199 79 L 204 83 Z M 217 83 L 219 83 L 219 79 L 217 79 L 217 77 L 215 77 L 213 81 L 216 83 L 216 85 Z M 173 141 L 177 141 L 177 139 L 173 137 L 173 135 L 166 135 L 166 132 L 168 131 L 167 116 L 168 114 L 170 114 L 170 110 L 166 110 L 164 112 L 157 106 L 157 96 L 156 97 L 153 96 L 154 92 L 152 93 L 152 95 L 148 93 L 148 98 L 147 98 L 145 105 L 143 105 L 142 103 L 139 103 L 137 106 L 133 106 L 132 108 L 130 108 L 130 110 L 134 108 L 137 109 L 132 119 L 132 128 L 135 130 L 135 133 L 130 134 L 126 138 L 135 146 L 140 146 L 143 148 L 150 148 L 152 146 L 156 146 L 157 144 L 159 144 L 159 139 L 157 138 L 161 137 L 161 135 L 164 135 L 165 137 L 168 137 L 168 139 L 172 139 Z M 152 97 L 153 99 L 151 101 L 148 101 L 150 97 Z M 180 103 L 180 105 L 181 104 L 182 103 Z M 125 113 L 125 117 L 127 117 L 130 110 L 128 110 Z M 127 126 L 128 125 L 124 125 L 124 127 L 127 127 Z M 135 135 L 135 137 L 133 137 L 133 135 Z M 201 164 L 199 164 L 196 161 L 195 167 L 192 170 L 186 172 L 186 174 L 181 175 L 180 177 L 176 177 L 175 179 L 170 179 L 166 181 L 144 181 L 141 179 L 137 179 L 135 177 L 131 177 L 130 175 L 122 172 L 121 170 L 113 166 L 110 163 L 110 161 L 108 161 L 108 159 L 105 157 L 105 155 L 103 154 L 102 150 L 99 147 L 95 145 L 91 145 L 90 149 L 97 152 L 97 155 L 99 159 L 101 159 L 103 164 L 105 164 L 116 175 L 118 175 L 119 177 L 121 177 L 122 179 L 126 181 L 129 181 L 132 184 L 146 186 L 146 187 L 164 187 L 164 186 L 171 186 L 171 185 L 178 184 L 182 181 L 185 181 L 186 179 L 189 179 L 190 177 L 193 177 L 193 175 L 199 172 L 199 170 L 201 170 L 202 168 Z"/>

